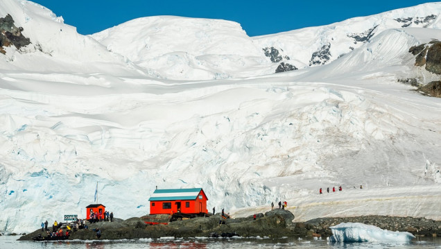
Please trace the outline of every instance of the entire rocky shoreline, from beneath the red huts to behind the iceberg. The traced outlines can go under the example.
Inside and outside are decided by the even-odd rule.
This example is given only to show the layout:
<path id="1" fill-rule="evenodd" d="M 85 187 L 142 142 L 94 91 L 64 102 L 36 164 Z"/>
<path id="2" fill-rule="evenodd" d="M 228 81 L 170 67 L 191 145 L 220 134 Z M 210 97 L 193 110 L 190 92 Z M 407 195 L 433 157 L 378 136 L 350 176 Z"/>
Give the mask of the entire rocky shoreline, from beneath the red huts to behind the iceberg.
<path id="1" fill-rule="evenodd" d="M 375 225 L 390 231 L 411 232 L 415 237 L 441 237 L 441 221 L 426 218 L 396 216 L 359 216 L 351 218 L 315 218 L 311 221 L 293 223 L 294 215 L 284 209 L 275 209 L 265 214 L 246 218 L 230 218 L 219 225 L 220 214 L 209 217 L 174 221 L 168 225 L 146 225 L 143 218 L 129 218 L 125 221 L 98 222 L 89 224 L 88 230 L 72 232 L 69 239 L 97 239 L 96 228 L 101 230 L 101 239 L 141 239 L 160 237 L 270 237 L 305 238 L 331 236 L 329 227 L 343 222 Z M 38 234 L 46 236 L 41 229 L 20 237 L 20 241 L 32 241 Z"/>

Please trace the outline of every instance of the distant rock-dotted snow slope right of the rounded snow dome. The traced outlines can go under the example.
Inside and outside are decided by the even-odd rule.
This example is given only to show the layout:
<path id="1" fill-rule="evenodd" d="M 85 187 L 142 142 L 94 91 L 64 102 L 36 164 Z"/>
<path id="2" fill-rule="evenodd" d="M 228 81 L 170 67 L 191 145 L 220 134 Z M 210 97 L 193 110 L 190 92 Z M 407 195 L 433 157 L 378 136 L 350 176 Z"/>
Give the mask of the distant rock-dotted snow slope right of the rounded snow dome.
<path id="1" fill-rule="evenodd" d="M 343 22 L 252 37 L 261 47 L 283 50 L 298 68 L 328 64 L 390 28 L 440 28 L 441 3 L 424 3 Z M 321 53 L 318 53 L 321 52 Z M 314 56 L 314 53 L 317 55 Z M 315 64 L 311 65 L 311 62 Z"/>

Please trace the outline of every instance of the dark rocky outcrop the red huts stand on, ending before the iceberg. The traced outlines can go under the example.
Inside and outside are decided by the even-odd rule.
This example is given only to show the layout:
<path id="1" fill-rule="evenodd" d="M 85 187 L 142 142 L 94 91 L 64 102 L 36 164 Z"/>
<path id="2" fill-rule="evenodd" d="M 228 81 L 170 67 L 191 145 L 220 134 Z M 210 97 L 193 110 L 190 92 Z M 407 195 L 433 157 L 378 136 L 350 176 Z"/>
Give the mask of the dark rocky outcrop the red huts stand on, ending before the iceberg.
<path id="1" fill-rule="evenodd" d="M 299 237 L 306 232 L 297 232 L 292 223 L 294 216 L 287 210 L 259 214 L 254 220 L 247 218 L 221 219 L 220 214 L 174 221 L 168 225 L 146 225 L 143 218 L 129 218 L 126 221 L 116 219 L 114 222 L 98 222 L 88 224 L 88 230 L 72 232 L 69 239 L 96 239 L 94 230 L 101 230 L 101 239 L 140 239 L 160 237 L 225 237 L 233 234 L 241 237 Z M 225 221 L 220 224 L 219 221 Z M 32 240 L 46 232 L 37 230 L 21 237 L 19 240 Z"/>

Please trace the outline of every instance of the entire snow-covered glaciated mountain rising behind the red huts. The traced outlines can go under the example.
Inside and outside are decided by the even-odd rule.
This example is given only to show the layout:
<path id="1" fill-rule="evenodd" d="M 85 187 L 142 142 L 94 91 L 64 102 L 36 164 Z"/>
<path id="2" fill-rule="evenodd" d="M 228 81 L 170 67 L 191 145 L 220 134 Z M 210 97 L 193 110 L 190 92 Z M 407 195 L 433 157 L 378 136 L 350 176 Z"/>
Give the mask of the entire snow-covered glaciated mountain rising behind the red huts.
<path id="1" fill-rule="evenodd" d="M 119 218 L 148 214 L 157 186 L 202 187 L 236 215 L 287 200 L 298 221 L 440 219 L 441 99 L 397 82 L 439 80 L 408 51 L 441 37 L 440 10 L 261 37 L 146 17 L 83 36 L 40 5 L 1 1 L 15 28 L 0 28 L 30 43 L 1 37 L 0 231 L 85 216 L 96 182 Z M 298 70 L 274 74 L 281 62 Z"/>

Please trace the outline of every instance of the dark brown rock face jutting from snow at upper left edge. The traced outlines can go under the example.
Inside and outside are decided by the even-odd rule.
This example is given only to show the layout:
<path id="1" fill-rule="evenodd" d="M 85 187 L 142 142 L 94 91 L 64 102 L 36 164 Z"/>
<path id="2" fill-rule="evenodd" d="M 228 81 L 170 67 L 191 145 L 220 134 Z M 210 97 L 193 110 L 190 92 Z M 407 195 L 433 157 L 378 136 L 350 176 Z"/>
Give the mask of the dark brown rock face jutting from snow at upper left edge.
<path id="1" fill-rule="evenodd" d="M 6 53 L 4 46 L 14 45 L 16 49 L 20 49 L 21 46 L 31 44 L 31 40 L 24 37 L 21 31 L 23 28 L 17 28 L 14 25 L 14 19 L 9 14 L 0 18 L 0 53 Z"/>

